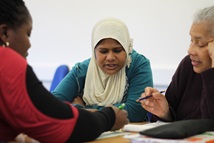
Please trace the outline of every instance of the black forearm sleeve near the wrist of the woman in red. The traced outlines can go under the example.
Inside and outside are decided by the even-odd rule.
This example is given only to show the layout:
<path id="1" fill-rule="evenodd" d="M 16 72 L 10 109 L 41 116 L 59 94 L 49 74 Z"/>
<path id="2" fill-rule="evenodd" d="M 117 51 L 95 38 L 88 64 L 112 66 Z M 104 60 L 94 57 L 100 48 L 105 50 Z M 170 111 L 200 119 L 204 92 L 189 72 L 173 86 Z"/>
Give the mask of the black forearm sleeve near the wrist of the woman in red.
<path id="1" fill-rule="evenodd" d="M 93 113 L 82 109 L 78 110 L 79 118 L 69 141 L 85 142 L 94 140 L 102 132 L 110 130 L 114 125 L 115 113 L 111 107 Z"/>

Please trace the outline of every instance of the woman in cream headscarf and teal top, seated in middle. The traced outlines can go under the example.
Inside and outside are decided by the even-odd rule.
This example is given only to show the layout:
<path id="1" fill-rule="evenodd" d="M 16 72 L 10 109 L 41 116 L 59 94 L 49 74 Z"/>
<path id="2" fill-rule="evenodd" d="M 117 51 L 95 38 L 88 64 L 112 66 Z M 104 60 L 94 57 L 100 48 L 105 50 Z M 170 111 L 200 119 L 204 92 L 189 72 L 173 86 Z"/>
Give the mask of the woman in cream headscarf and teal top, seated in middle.
<path id="1" fill-rule="evenodd" d="M 87 109 L 125 103 L 129 120 L 137 122 L 147 120 L 147 112 L 136 102 L 146 86 L 153 86 L 149 60 L 132 49 L 122 21 L 106 18 L 93 28 L 92 57 L 77 63 L 53 94 Z"/>

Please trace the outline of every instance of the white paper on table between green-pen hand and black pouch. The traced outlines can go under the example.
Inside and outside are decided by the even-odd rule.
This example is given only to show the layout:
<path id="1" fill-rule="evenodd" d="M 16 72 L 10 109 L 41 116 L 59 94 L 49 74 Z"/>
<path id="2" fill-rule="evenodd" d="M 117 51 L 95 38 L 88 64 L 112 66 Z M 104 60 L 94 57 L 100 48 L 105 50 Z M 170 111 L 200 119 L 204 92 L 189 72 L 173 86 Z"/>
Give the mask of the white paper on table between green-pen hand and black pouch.
<path id="1" fill-rule="evenodd" d="M 157 121 L 154 123 L 147 123 L 147 124 L 143 124 L 143 125 L 137 125 L 137 124 L 128 124 L 125 125 L 123 128 L 123 131 L 126 132 L 140 132 L 140 131 L 144 131 L 147 129 L 151 129 L 157 126 L 161 126 L 161 125 L 165 125 L 168 124 L 169 122 L 161 122 L 161 121 Z"/>

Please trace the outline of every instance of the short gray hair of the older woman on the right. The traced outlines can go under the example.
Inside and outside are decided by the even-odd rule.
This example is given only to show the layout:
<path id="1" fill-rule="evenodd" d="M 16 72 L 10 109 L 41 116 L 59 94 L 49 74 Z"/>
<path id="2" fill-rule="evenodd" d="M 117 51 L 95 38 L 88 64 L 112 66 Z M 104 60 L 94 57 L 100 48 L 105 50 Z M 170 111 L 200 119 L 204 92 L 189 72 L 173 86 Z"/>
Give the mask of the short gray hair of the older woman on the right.
<path id="1" fill-rule="evenodd" d="M 203 8 L 195 13 L 193 23 L 206 22 L 211 34 L 214 36 L 214 5 Z"/>

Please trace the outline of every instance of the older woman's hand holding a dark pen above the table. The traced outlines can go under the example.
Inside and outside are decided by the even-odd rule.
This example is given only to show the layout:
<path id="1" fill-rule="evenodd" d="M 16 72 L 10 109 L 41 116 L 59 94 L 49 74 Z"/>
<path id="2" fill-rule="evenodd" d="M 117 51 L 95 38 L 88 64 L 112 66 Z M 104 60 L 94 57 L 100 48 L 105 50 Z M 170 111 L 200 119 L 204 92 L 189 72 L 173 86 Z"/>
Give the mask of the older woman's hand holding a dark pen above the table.
<path id="1" fill-rule="evenodd" d="M 145 97 L 151 94 L 152 97 L 139 101 L 141 102 L 141 106 L 145 110 L 158 116 L 159 118 L 170 121 L 171 116 L 166 97 L 157 89 L 151 87 L 145 88 L 145 92 L 141 95 L 141 97 Z"/>

